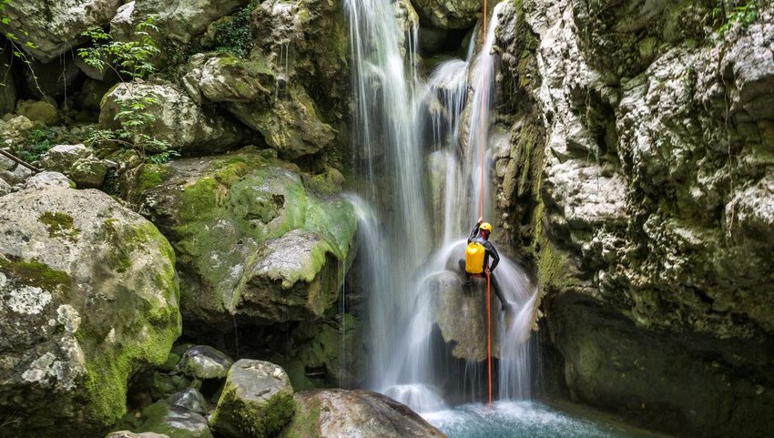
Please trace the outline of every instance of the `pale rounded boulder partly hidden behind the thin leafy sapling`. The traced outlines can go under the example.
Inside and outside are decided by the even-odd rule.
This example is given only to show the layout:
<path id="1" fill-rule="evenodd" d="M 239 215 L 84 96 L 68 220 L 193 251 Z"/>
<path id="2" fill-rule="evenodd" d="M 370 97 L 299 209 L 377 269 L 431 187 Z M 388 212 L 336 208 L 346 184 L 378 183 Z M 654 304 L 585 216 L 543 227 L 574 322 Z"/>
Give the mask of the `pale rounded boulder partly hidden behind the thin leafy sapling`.
<path id="1" fill-rule="evenodd" d="M 242 130 L 237 123 L 219 117 L 213 108 L 199 107 L 188 95 L 168 83 L 122 83 L 103 98 L 99 113 L 102 127 L 117 128 L 119 102 L 134 96 L 155 96 L 157 103 L 145 111 L 156 117 L 148 135 L 166 141 L 183 154 L 215 153 L 239 144 Z"/>

